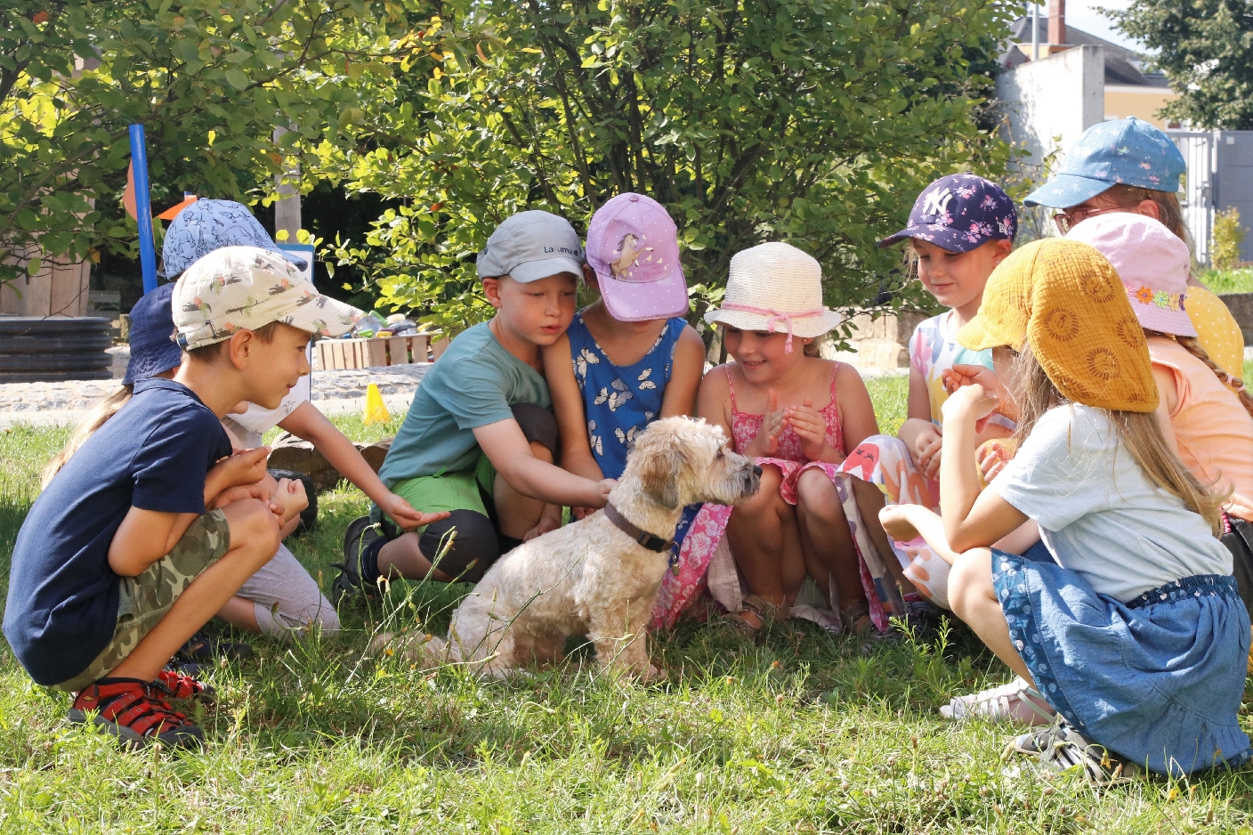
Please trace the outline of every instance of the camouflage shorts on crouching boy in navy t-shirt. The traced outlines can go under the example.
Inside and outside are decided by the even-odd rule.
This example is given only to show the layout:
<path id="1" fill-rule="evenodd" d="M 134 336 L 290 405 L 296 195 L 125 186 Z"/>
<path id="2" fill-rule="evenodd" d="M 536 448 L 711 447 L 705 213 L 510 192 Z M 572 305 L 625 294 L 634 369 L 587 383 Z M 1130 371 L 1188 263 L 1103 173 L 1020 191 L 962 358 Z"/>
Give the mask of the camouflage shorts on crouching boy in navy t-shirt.
<path id="1" fill-rule="evenodd" d="M 135 577 L 123 577 L 118 584 L 118 626 L 109 646 L 88 668 L 53 690 L 76 692 L 108 676 L 125 661 L 148 631 L 165 617 L 178 596 L 197 577 L 222 559 L 231 547 L 231 527 L 222 510 L 199 517 L 178 540 L 173 550 Z"/>

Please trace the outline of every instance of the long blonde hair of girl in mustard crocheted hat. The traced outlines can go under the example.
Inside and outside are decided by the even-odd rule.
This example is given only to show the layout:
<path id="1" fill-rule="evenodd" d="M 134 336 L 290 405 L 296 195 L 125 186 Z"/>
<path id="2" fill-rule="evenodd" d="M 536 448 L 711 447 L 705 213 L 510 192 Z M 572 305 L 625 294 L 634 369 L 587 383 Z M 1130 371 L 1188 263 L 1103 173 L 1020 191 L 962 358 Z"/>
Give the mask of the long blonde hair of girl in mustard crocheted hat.
<path id="1" fill-rule="evenodd" d="M 1014 440 L 1021 445 L 1044 412 L 1054 406 L 1069 405 L 1070 400 L 1053 385 L 1053 380 L 1035 359 L 1030 344 L 1022 346 L 1022 351 L 1014 360 L 1012 369 L 1011 387 L 1015 401 L 1021 410 Z M 1192 470 L 1184 466 L 1179 456 L 1167 444 L 1155 412 L 1110 409 L 1101 411 L 1109 415 L 1110 424 L 1118 434 L 1118 441 L 1131 454 L 1144 474 L 1159 488 L 1182 499 L 1189 509 L 1199 513 L 1209 523 L 1214 535 L 1219 535 L 1223 530 L 1223 504 L 1230 495 L 1230 490 L 1225 495 L 1218 495 L 1197 480 Z"/>

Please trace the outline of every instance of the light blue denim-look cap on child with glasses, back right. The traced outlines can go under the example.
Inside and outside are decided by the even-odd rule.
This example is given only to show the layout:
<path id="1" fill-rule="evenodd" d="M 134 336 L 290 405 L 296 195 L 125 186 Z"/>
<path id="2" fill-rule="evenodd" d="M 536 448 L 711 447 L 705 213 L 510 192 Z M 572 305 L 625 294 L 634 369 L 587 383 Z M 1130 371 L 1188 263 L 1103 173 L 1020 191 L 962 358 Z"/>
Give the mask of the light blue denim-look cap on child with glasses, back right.
<path id="1" fill-rule="evenodd" d="M 1026 196 L 1024 206 L 1066 209 L 1114 186 L 1178 192 L 1188 171 L 1170 137 L 1135 117 L 1101 122 L 1084 130 L 1066 152 L 1061 171 Z"/>

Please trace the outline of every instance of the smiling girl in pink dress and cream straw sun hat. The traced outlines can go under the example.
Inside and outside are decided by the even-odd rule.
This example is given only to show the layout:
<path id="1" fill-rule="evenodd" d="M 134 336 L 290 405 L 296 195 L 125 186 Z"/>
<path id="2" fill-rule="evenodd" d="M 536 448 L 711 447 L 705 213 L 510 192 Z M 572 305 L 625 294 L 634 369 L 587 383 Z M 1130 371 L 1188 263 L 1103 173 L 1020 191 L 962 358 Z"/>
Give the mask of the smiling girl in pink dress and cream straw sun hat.
<path id="1" fill-rule="evenodd" d="M 912 587 L 878 524 L 883 494 L 840 471 L 878 426 L 857 371 L 817 356 L 816 339 L 840 322 L 822 306 L 818 262 L 786 243 L 737 253 L 725 302 L 705 320 L 722 325 L 734 362 L 705 375 L 697 411 L 763 469 L 753 499 L 693 525 L 693 547 L 725 533 L 749 587 L 733 617 L 744 629 L 788 617 L 808 573 L 838 612 L 828 623 L 886 631 L 897 586 Z"/>

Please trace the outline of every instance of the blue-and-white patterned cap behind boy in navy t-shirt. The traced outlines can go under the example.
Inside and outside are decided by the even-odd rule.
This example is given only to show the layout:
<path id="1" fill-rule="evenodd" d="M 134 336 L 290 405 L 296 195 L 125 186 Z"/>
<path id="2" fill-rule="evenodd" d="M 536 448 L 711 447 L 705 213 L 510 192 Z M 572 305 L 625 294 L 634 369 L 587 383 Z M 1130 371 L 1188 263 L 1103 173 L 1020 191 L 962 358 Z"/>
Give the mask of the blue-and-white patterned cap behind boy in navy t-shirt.
<path id="1" fill-rule="evenodd" d="M 301 270 L 308 261 L 279 249 L 248 207 L 234 201 L 195 201 L 165 229 L 162 277 L 177 278 L 184 270 L 222 247 L 257 247 L 277 252 Z"/>

